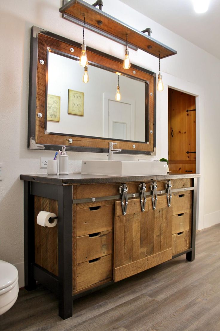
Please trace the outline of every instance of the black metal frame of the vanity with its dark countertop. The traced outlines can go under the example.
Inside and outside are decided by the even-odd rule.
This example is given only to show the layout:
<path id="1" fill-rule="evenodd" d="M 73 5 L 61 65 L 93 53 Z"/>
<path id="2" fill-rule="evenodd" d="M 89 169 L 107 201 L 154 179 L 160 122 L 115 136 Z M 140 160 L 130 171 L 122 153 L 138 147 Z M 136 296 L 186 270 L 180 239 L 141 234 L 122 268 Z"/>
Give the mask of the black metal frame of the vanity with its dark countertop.
<path id="1" fill-rule="evenodd" d="M 36 288 L 36 281 L 45 285 L 52 291 L 59 300 L 59 316 L 63 319 L 73 315 L 73 298 L 94 292 L 103 288 L 113 281 L 87 290 L 83 293 L 72 296 L 72 205 L 73 205 L 73 184 L 93 184 L 93 183 L 123 183 L 132 181 L 154 181 L 169 179 L 169 175 L 164 176 L 133 176 L 133 177 L 110 177 L 100 176 L 100 178 L 90 178 L 81 175 L 74 176 L 68 180 L 65 177 L 47 175 L 21 175 L 24 181 L 24 271 L 25 289 L 30 291 Z M 79 175 L 79 174 L 77 174 Z M 173 178 L 193 178 L 193 214 L 191 231 L 191 248 L 173 256 L 173 258 L 186 254 L 186 259 L 195 259 L 195 233 L 196 233 L 196 200 L 197 200 L 197 178 L 200 175 L 172 175 Z M 67 176 L 66 176 L 67 177 Z M 75 177 L 75 178 L 74 178 Z M 192 188 L 190 188 L 192 189 Z M 48 272 L 45 268 L 35 263 L 35 206 L 34 196 L 45 197 L 58 201 L 58 276 Z"/>

